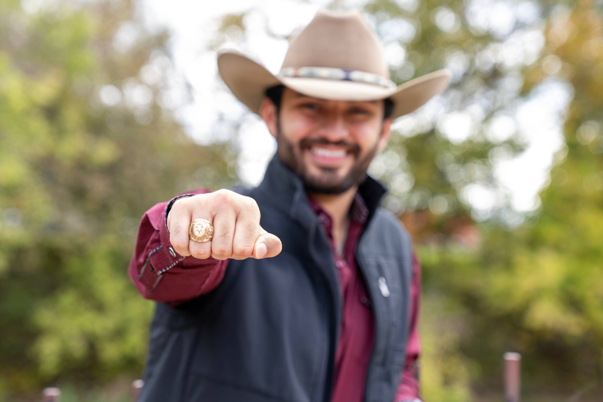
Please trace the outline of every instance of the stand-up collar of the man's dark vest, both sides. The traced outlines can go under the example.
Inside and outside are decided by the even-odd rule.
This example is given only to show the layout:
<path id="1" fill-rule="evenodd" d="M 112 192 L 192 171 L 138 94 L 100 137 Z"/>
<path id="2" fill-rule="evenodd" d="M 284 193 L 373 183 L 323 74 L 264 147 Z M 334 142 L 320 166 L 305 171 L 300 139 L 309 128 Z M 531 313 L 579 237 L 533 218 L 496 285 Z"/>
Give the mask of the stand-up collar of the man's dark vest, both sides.
<path id="1" fill-rule="evenodd" d="M 266 193 L 270 199 L 273 199 L 277 206 L 288 212 L 290 216 L 300 216 L 299 208 L 308 209 L 312 212 L 303 182 L 297 174 L 283 164 L 277 153 L 274 154 L 268 164 L 264 179 L 262 179 L 258 188 Z M 369 212 L 368 223 L 379 206 L 381 198 L 387 193 L 387 188 L 367 175 L 364 182 L 358 186 L 358 192 L 364 199 Z"/>

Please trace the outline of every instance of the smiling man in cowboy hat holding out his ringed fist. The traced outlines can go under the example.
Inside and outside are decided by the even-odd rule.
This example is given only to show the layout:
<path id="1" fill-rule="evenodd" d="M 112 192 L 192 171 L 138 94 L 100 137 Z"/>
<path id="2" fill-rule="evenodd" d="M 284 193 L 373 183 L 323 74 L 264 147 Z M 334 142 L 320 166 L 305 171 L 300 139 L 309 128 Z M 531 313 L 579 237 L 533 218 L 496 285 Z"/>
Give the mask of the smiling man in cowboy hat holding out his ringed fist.
<path id="1" fill-rule="evenodd" d="M 192 191 L 142 218 L 129 274 L 157 304 L 140 401 L 419 398 L 418 262 L 366 171 L 393 119 L 450 74 L 396 88 L 384 60 L 359 12 L 317 13 L 276 76 L 219 53 L 277 154 L 259 187 Z"/>

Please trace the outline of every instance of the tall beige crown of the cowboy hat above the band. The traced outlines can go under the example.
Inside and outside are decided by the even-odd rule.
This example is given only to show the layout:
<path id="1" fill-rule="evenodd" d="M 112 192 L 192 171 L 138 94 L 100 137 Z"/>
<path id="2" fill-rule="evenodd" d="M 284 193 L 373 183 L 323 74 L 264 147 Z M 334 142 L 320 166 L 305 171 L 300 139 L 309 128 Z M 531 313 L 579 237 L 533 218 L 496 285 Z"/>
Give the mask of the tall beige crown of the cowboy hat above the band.
<path id="1" fill-rule="evenodd" d="M 320 10 L 291 39 L 281 68 L 309 66 L 390 77 L 383 45 L 360 11 L 335 13 Z"/>

